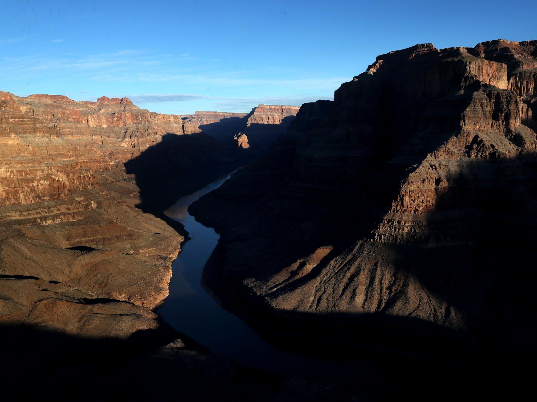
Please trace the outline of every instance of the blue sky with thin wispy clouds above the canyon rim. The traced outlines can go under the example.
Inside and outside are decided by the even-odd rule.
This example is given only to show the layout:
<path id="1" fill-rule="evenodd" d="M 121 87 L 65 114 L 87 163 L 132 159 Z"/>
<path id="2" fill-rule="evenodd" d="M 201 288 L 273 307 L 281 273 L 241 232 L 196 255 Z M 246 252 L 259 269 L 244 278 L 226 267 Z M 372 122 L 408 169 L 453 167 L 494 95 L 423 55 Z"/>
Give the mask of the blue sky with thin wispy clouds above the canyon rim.
<path id="1" fill-rule="evenodd" d="M 0 90 L 160 113 L 333 99 L 379 54 L 534 40 L 537 2 L 3 1 Z"/>

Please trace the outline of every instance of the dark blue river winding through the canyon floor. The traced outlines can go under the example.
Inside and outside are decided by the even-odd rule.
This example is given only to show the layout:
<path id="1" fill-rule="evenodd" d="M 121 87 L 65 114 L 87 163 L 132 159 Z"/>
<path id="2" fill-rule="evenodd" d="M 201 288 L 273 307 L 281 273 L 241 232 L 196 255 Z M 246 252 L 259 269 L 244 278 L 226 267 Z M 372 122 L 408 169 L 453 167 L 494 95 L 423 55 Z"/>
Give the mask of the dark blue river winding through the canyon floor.
<path id="1" fill-rule="evenodd" d="M 192 238 L 173 262 L 170 295 L 158 309 L 166 322 L 230 360 L 246 366 L 282 374 L 320 375 L 345 370 L 337 363 L 277 349 L 264 341 L 241 318 L 222 308 L 201 286 L 201 273 L 216 247 L 219 235 L 197 222 L 188 206 L 202 195 L 220 187 L 231 174 L 191 195 L 180 198 L 165 213 L 181 222 Z M 337 367 L 335 367 L 337 366 Z M 346 370 L 345 370 L 346 371 Z"/>

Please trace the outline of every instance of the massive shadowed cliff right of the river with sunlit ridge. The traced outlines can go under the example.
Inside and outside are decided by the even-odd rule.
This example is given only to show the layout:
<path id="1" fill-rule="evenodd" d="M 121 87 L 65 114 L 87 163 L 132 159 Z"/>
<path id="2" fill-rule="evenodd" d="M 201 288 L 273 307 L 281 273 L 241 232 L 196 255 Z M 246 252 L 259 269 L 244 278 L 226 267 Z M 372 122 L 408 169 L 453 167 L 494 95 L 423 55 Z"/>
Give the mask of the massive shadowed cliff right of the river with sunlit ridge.
<path id="1" fill-rule="evenodd" d="M 206 286 L 267 331 L 347 350 L 533 348 L 536 44 L 419 44 L 303 105 L 265 158 L 192 205 L 222 235 Z"/>

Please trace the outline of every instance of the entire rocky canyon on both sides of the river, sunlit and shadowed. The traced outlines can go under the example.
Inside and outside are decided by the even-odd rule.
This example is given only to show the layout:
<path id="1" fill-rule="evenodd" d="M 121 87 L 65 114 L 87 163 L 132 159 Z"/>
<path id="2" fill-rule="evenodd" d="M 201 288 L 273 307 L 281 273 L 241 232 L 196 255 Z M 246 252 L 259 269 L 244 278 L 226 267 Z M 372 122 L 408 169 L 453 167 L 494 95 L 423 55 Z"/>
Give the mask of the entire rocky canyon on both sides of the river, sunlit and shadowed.
<path id="1" fill-rule="evenodd" d="M 91 354 L 106 351 L 110 392 L 130 364 L 325 397 L 245 374 L 154 312 L 187 239 L 164 210 L 244 165 L 189 211 L 221 234 L 204 286 L 267 337 L 338 357 L 534 352 L 535 116 L 537 41 L 418 44 L 334 101 L 250 114 L 0 92 L 0 323 L 3 368 L 17 367 L 2 381 L 63 373 L 68 354 L 90 362 L 72 381 L 100 378 Z"/>

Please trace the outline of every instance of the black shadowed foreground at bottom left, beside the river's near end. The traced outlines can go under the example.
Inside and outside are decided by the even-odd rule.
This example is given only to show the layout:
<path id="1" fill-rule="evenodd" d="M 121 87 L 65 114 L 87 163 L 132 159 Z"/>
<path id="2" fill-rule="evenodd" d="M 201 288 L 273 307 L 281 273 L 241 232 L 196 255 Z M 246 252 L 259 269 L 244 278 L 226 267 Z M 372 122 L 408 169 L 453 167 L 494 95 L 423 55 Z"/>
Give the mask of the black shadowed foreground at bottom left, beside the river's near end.
<path id="1" fill-rule="evenodd" d="M 164 325 L 165 326 L 165 325 Z M 172 351 L 155 348 L 181 337 Z M 39 326 L 0 326 L 0 387 L 5 400 L 307 400 L 326 388 L 247 369 L 170 329 L 127 340 L 91 339 Z M 313 398 L 309 398 L 313 397 Z M 283 398 L 283 399 L 281 399 Z"/>

